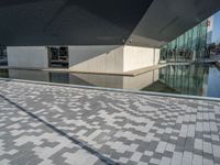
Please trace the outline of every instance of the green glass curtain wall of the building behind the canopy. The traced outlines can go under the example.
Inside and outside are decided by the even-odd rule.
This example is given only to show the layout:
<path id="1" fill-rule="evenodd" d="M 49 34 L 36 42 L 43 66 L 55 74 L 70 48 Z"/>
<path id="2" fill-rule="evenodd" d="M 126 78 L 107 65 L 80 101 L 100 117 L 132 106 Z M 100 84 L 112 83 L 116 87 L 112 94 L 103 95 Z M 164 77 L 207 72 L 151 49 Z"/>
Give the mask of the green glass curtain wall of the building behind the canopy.
<path id="1" fill-rule="evenodd" d="M 161 61 L 194 62 L 207 56 L 207 23 L 205 20 L 161 48 Z"/>

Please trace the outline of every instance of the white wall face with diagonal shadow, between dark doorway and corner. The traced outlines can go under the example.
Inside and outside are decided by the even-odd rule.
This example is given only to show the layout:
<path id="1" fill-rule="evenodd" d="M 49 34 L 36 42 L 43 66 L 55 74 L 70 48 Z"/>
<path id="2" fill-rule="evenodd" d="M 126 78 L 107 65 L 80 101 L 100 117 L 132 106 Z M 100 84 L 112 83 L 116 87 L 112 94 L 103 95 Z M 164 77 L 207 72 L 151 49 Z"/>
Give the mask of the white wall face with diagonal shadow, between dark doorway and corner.
<path id="1" fill-rule="evenodd" d="M 69 69 L 121 73 L 123 72 L 123 46 L 69 46 Z"/>

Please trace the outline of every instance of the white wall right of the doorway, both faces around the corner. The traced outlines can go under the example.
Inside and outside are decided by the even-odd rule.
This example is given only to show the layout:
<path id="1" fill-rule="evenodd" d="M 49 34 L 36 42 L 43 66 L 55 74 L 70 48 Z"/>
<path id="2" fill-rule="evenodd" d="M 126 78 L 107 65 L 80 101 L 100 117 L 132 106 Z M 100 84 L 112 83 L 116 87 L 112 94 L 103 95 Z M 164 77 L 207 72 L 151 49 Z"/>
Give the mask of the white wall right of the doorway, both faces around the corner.
<path id="1" fill-rule="evenodd" d="M 160 50 L 138 46 L 69 46 L 69 69 L 123 73 L 157 65 Z"/>

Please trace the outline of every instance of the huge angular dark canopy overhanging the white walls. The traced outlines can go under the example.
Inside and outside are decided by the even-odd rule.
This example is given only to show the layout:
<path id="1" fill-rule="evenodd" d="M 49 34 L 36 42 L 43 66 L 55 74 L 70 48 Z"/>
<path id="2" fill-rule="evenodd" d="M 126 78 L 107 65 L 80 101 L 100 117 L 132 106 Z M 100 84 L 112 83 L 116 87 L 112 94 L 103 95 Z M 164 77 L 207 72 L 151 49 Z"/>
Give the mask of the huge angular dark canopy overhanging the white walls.
<path id="1" fill-rule="evenodd" d="M 1 0 L 0 44 L 160 47 L 220 0 Z"/>

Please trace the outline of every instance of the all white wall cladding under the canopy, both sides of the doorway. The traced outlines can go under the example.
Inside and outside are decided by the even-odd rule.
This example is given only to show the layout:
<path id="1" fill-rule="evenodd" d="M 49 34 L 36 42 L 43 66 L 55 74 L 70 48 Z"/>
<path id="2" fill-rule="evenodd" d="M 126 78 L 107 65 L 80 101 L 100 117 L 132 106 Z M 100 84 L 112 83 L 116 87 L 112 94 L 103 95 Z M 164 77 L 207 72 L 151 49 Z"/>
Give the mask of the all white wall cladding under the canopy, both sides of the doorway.
<path id="1" fill-rule="evenodd" d="M 68 46 L 69 69 L 89 73 L 125 73 L 158 64 L 160 50 L 123 45 Z M 10 67 L 47 68 L 45 46 L 8 47 Z"/>

